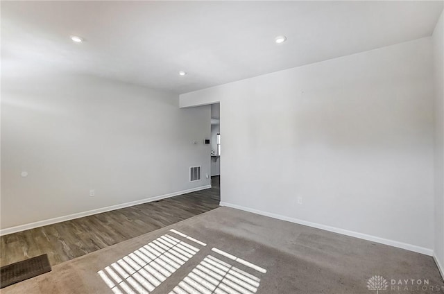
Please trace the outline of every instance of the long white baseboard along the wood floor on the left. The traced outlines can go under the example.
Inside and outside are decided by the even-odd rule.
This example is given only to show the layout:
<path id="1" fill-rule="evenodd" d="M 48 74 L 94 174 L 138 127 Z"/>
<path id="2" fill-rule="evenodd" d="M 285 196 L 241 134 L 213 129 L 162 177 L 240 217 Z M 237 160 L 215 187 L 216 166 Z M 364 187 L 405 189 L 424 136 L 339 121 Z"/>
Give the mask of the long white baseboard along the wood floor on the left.
<path id="1" fill-rule="evenodd" d="M 205 185 L 205 186 L 200 186 L 200 187 L 196 187 L 196 188 L 192 188 L 192 189 L 187 189 L 187 190 L 182 190 L 182 191 L 173 192 L 173 193 L 169 193 L 169 194 L 164 194 L 161 196 L 155 196 L 155 197 L 151 197 L 151 198 L 145 198 L 145 199 L 141 199 L 141 200 L 126 202 L 126 203 L 112 205 L 112 206 L 103 207 L 103 208 L 99 208 L 99 209 L 92 209 L 92 210 L 88 210 L 88 211 L 83 211 L 83 212 L 79 212 L 77 214 L 69 214 L 67 216 L 59 216 L 57 218 L 49 218 L 47 220 L 39 220 L 39 221 L 36 221 L 35 223 L 27 223 L 24 225 L 17 225 L 15 227 L 7 227 L 6 229 L 0 230 L 0 236 L 12 234 L 12 233 L 16 233 L 16 232 L 22 232 L 24 230 L 34 229 L 35 227 L 42 227 L 44 225 L 52 225 L 53 223 L 61 223 L 62 221 L 72 220 L 74 218 L 83 218 L 84 216 L 91 216 L 93 214 L 101 214 L 102 212 L 106 212 L 106 211 L 111 211 L 111 210 L 115 210 L 115 209 L 144 204 L 147 202 L 152 202 L 152 201 L 156 201 L 156 200 L 160 200 L 160 199 L 164 199 L 164 198 L 170 198 L 173 196 L 179 196 L 182 194 L 186 194 L 186 193 L 190 193 L 190 192 L 194 192 L 194 191 L 200 191 L 200 190 L 209 189 L 209 188 L 211 188 L 211 185 Z"/>

